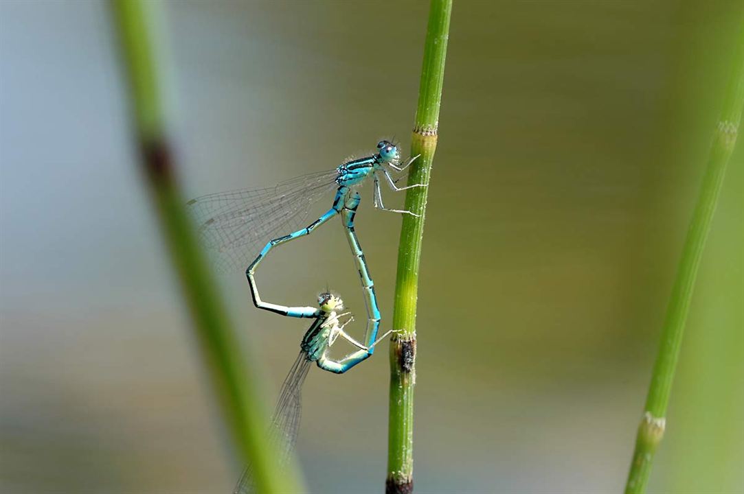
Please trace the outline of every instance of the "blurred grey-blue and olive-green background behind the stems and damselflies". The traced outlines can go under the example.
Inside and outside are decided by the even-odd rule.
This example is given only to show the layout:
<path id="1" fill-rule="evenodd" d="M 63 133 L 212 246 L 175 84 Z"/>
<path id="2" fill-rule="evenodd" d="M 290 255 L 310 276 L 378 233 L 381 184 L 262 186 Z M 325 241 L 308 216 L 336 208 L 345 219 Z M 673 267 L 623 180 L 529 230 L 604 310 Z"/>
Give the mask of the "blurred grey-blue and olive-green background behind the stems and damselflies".
<path id="1" fill-rule="evenodd" d="M 741 10 L 455 1 L 420 273 L 417 493 L 623 489 Z M 407 149 L 427 13 L 165 2 L 187 196 L 330 169 L 380 137 Z M 1 1 L 4 493 L 227 493 L 240 472 L 136 159 L 108 4 Z M 740 143 L 653 493 L 744 492 L 743 163 Z M 387 329 L 400 218 L 362 195 Z M 266 299 L 312 305 L 328 284 L 364 314 L 335 221 L 259 277 Z M 307 324 L 257 311 L 243 273 L 220 280 L 273 403 Z M 383 347 L 344 376 L 310 372 L 298 452 L 311 492 L 382 492 Z"/>

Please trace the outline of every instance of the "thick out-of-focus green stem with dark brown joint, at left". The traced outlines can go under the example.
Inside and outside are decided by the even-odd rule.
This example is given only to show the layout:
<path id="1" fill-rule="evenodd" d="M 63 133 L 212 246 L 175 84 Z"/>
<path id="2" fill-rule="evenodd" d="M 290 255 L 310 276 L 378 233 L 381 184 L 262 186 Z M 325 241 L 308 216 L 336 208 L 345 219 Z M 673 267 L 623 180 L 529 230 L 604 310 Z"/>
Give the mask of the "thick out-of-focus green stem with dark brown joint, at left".
<path id="1" fill-rule="evenodd" d="M 264 441 L 266 421 L 255 374 L 240 356 L 176 184 L 153 51 L 157 30 L 149 10 L 159 5 L 146 0 L 115 0 L 112 4 L 144 175 L 222 413 L 242 460 L 253 467 L 259 492 L 294 492 L 296 476 L 278 472 L 271 445 Z"/>

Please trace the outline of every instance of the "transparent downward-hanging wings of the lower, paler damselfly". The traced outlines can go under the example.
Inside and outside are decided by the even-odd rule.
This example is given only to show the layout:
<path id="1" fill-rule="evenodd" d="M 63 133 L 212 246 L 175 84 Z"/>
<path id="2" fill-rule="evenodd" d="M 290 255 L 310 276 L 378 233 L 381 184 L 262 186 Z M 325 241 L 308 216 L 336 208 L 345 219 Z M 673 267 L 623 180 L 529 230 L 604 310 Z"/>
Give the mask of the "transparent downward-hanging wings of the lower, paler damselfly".
<path id="1" fill-rule="evenodd" d="M 276 462 L 279 469 L 286 467 L 292 452 L 297 444 L 297 434 L 300 429 L 300 418 L 302 415 L 301 395 L 302 384 L 310 370 L 310 360 L 307 354 L 301 351 L 295 360 L 295 365 L 289 369 L 277 401 L 272 424 L 269 426 L 267 438 L 274 451 L 277 453 Z M 253 494 L 256 492 L 253 483 L 253 471 L 248 464 L 243 469 L 243 474 L 237 481 L 233 494 Z"/>

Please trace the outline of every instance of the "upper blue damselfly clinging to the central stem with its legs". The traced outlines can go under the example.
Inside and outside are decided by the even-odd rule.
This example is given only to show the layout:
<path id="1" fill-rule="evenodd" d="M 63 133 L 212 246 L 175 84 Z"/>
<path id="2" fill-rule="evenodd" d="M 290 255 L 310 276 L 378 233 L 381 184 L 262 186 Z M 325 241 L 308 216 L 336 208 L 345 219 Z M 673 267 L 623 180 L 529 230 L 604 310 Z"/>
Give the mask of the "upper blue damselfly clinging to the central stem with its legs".
<path id="1" fill-rule="evenodd" d="M 377 143 L 377 152 L 368 157 L 347 160 L 336 169 L 318 172 L 304 177 L 295 178 L 272 189 L 241 190 L 205 195 L 192 199 L 188 205 L 193 210 L 199 222 L 199 233 L 202 240 L 214 250 L 222 253 L 220 267 L 240 266 L 243 268 L 253 259 L 256 250 L 266 241 L 287 227 L 297 229 L 305 218 L 310 206 L 324 195 L 330 195 L 336 189 L 333 205 L 320 218 L 307 227 L 300 228 L 293 233 L 273 238 L 263 247 L 258 256 L 253 259 L 246 269 L 248 284 L 251 285 L 251 296 L 257 308 L 278 312 L 286 315 L 285 307 L 261 300 L 254 273 L 260 261 L 273 247 L 309 235 L 315 228 L 324 224 L 336 215 L 341 215 L 344 231 L 351 247 L 354 259 L 365 291 L 365 302 L 368 311 L 368 327 L 365 340 L 373 341 L 379 327 L 379 311 L 377 310 L 374 284 L 369 274 L 367 261 L 359 239 L 354 230 L 354 216 L 359 207 L 361 196 L 356 191 L 365 179 L 373 178 L 373 204 L 378 209 L 401 212 L 414 216 L 416 213 L 403 209 L 388 209 L 382 203 L 382 192 L 379 186 L 382 174 L 391 189 L 396 191 L 425 186 L 421 183 L 398 187 L 391 175 L 391 170 L 403 172 L 417 158 L 413 157 L 405 165 L 400 166 L 400 152 L 398 147 L 388 140 Z M 343 373 L 357 363 L 370 357 L 373 348 L 359 354 L 358 358 L 348 360 L 344 365 L 335 368 L 325 368 L 327 371 Z"/>

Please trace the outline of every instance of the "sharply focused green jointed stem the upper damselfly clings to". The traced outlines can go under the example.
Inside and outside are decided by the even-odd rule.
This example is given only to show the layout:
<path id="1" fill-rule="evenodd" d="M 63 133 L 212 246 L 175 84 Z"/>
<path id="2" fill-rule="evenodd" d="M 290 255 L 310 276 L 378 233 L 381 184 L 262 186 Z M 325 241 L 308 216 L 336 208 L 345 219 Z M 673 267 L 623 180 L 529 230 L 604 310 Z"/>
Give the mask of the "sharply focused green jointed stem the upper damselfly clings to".
<path id="1" fill-rule="evenodd" d="M 390 403 L 388 428 L 388 494 L 413 491 L 413 420 L 416 382 L 416 303 L 418 270 L 421 259 L 426 196 L 432 160 L 437 148 L 439 107 L 442 100 L 444 59 L 449 38 L 452 0 L 432 0 L 426 29 L 423 67 L 419 87 L 416 120 L 411 138 L 411 156 L 420 157 L 411 164 L 408 185 L 426 187 L 408 189 L 405 209 L 420 215 L 403 215 L 398 248 L 398 273 L 395 285 L 393 328 L 399 331 L 390 345 Z"/>

